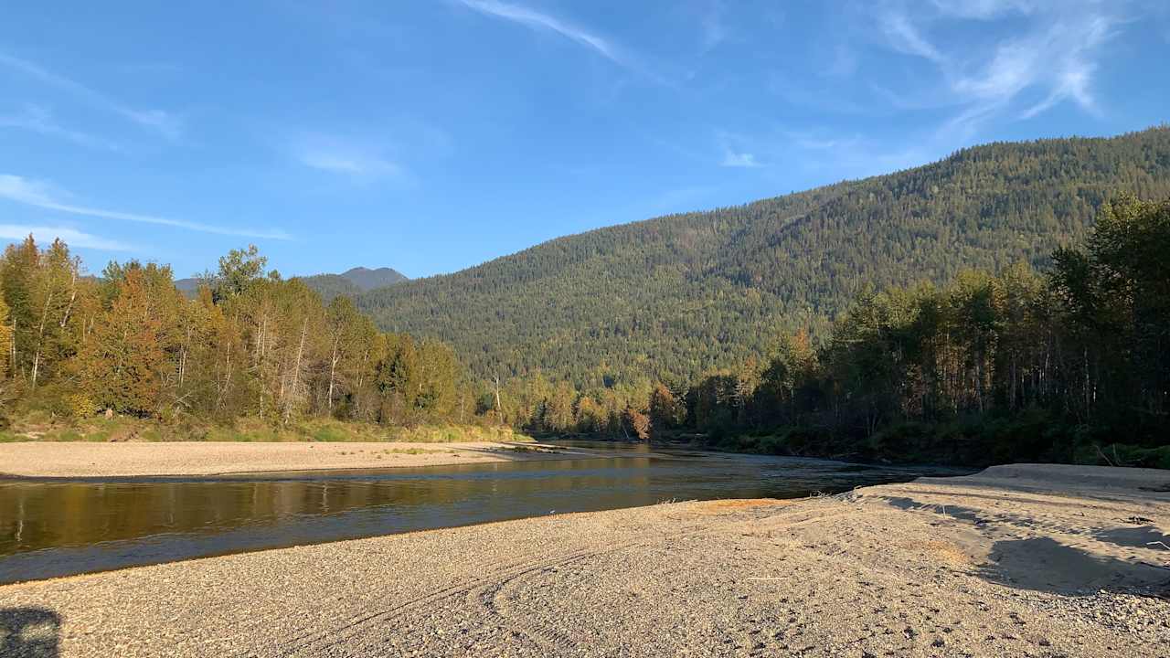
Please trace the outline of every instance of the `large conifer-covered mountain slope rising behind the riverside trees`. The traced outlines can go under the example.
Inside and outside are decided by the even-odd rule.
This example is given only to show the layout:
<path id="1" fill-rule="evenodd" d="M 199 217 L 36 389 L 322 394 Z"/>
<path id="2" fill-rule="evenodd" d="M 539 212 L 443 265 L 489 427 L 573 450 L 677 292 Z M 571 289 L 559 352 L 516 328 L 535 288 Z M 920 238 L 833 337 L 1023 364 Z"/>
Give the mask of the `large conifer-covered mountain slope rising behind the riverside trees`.
<path id="1" fill-rule="evenodd" d="M 814 341 L 867 287 L 1046 266 L 1117 192 L 1170 196 L 1170 129 L 997 143 L 922 167 L 552 240 L 358 297 L 481 377 L 694 381 Z"/>

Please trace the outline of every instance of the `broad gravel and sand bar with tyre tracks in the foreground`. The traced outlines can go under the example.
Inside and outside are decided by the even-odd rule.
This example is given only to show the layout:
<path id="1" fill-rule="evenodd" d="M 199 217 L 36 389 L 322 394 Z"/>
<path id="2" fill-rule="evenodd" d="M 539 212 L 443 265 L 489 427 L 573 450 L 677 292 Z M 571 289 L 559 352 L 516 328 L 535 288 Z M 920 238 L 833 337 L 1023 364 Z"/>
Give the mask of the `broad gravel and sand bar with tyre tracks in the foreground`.
<path id="1" fill-rule="evenodd" d="M 1157 489 L 1009 466 L 548 516 L 7 585 L 0 626 L 55 615 L 64 657 L 1166 656 Z"/>

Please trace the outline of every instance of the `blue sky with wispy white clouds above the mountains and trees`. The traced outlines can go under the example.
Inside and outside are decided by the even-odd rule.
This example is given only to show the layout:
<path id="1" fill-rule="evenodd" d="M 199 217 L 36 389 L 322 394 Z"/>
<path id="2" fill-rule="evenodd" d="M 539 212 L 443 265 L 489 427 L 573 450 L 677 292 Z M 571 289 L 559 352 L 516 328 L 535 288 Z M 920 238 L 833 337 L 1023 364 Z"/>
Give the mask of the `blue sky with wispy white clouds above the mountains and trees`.
<path id="1" fill-rule="evenodd" d="M 1168 121 L 1170 4 L 15 2 L 0 238 L 453 272 L 965 145 Z"/>

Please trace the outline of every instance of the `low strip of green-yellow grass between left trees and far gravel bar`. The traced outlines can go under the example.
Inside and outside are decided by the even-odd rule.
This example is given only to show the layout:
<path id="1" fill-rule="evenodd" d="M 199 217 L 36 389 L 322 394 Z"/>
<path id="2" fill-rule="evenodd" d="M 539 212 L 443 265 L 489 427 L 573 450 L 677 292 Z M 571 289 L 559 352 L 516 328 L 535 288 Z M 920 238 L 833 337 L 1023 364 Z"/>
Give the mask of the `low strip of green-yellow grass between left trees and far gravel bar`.
<path id="1" fill-rule="evenodd" d="M 274 425 L 240 419 L 232 425 L 165 424 L 115 416 L 61 420 L 32 413 L 0 431 L 0 441 L 529 441 L 530 437 L 507 426 L 417 425 L 386 427 L 372 423 L 311 419 Z"/>

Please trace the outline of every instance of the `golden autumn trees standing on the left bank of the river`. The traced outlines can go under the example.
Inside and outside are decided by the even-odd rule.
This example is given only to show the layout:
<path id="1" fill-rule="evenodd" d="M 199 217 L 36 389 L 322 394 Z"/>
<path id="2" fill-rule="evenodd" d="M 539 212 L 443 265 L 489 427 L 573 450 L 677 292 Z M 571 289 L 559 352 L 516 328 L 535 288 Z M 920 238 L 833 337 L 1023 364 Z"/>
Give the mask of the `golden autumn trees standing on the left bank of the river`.
<path id="1" fill-rule="evenodd" d="M 87 276 L 61 240 L 9 245 L 0 259 L 4 419 L 28 409 L 281 425 L 470 418 L 474 390 L 448 345 L 383 333 L 350 297 L 325 304 L 266 267 L 255 247 L 233 251 L 187 296 L 166 266 L 111 262 Z"/>

